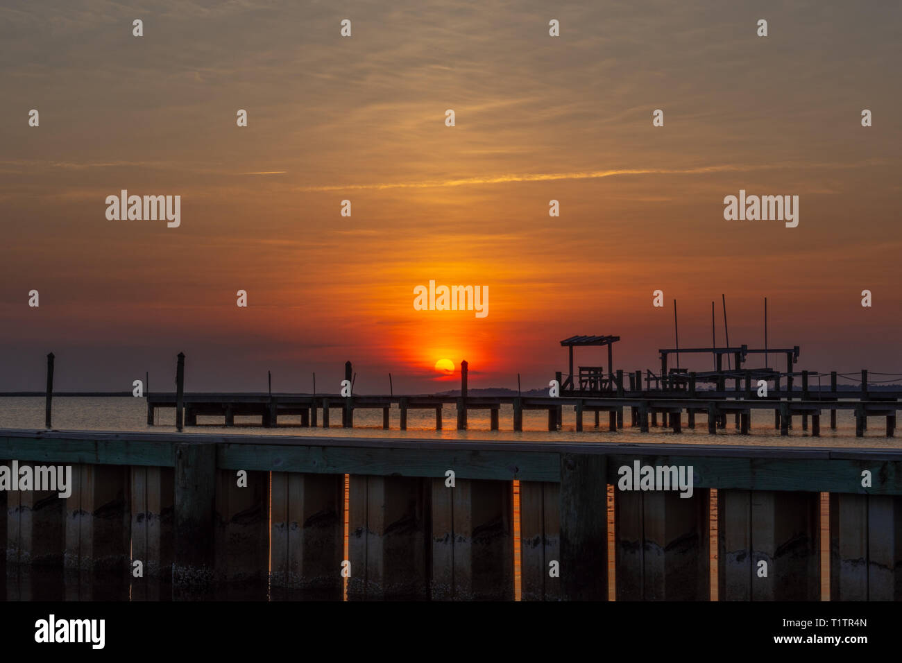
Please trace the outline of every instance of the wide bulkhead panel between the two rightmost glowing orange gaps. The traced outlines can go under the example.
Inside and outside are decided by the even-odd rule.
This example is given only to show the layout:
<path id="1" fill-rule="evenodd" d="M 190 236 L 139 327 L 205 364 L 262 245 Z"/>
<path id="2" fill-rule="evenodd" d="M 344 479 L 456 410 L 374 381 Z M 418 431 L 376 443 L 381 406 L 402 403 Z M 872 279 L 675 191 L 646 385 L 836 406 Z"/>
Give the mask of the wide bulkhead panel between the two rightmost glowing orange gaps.
<path id="1" fill-rule="evenodd" d="M 718 490 L 718 600 L 819 601 L 820 502 L 820 493 Z"/>

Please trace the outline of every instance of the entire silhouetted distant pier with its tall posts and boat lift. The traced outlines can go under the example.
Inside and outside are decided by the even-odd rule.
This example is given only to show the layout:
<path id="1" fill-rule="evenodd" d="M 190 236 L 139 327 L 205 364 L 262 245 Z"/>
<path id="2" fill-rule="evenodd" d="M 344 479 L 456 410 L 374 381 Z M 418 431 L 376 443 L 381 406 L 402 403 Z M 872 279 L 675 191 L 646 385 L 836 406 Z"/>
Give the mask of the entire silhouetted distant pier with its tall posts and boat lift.
<path id="1" fill-rule="evenodd" d="M 594 337 L 593 337 L 594 338 Z M 603 337 L 610 353 L 611 339 L 617 336 Z M 563 342 L 562 342 L 563 343 Z M 712 352 L 711 348 L 688 348 L 682 353 Z M 793 372 L 792 364 L 798 356 L 798 347 L 771 350 L 787 355 L 787 372 L 781 373 L 771 369 L 741 369 L 735 371 L 717 370 L 710 373 L 686 372 L 667 369 L 667 355 L 672 351 L 660 350 L 662 367 L 660 374 L 640 371 L 624 374 L 622 370 L 603 373 L 600 366 L 580 367 L 580 373 L 574 380 L 571 373 L 564 379 L 557 373 L 557 383 L 564 389 L 558 396 L 473 396 L 467 392 L 467 365 L 461 364 L 461 391 L 459 396 L 438 395 L 358 395 L 349 391 L 348 395 L 333 394 L 296 394 L 296 393 L 184 393 L 184 356 L 179 356 L 177 384 L 179 389 L 169 393 L 147 394 L 147 424 L 152 426 L 157 410 L 174 408 L 176 410 L 177 428 L 196 426 L 198 416 L 221 417 L 225 426 L 233 426 L 236 416 L 260 417 L 264 427 L 279 425 L 281 416 L 299 416 L 300 426 L 323 428 L 332 426 L 340 416 L 344 428 L 354 427 L 356 410 L 382 410 L 382 428 L 389 429 L 391 410 L 400 410 L 400 430 L 407 429 L 408 412 L 410 410 L 433 410 L 436 417 L 436 429 L 444 428 L 443 410 L 446 405 L 456 410 L 456 428 L 467 428 L 467 412 L 470 410 L 489 410 L 490 428 L 498 430 L 501 426 L 500 411 L 502 405 L 511 407 L 512 421 L 505 422 L 512 430 L 523 429 L 524 410 L 545 410 L 548 412 L 548 430 L 557 430 L 561 426 L 563 409 L 572 408 L 575 413 L 575 428 L 584 430 L 586 413 L 594 414 L 594 427 L 601 425 L 601 413 L 608 414 L 608 430 L 623 428 L 624 410 L 630 411 L 630 423 L 639 427 L 641 432 L 648 432 L 650 427 L 658 426 L 658 415 L 661 425 L 670 428 L 674 433 L 682 432 L 684 419 L 687 428 L 695 428 L 695 416 L 703 414 L 707 417 L 708 433 L 715 435 L 718 429 L 726 428 L 727 416 L 732 415 L 735 428 L 741 434 L 749 434 L 752 429 L 754 412 L 772 411 L 774 427 L 781 435 L 788 436 L 793 428 L 793 419 L 801 419 L 802 430 L 809 429 L 811 435 L 820 436 L 821 416 L 824 412 L 830 415 L 830 427 L 836 428 L 836 411 L 852 410 L 856 421 L 856 435 L 864 436 L 868 428 L 868 420 L 883 418 L 886 421 L 886 435 L 893 437 L 896 430 L 897 410 L 900 409 L 899 398 L 902 390 L 874 391 L 869 389 L 867 371 L 861 371 L 861 384 L 858 391 L 841 390 L 838 386 L 838 374 L 829 373 L 829 388 L 814 388 L 815 380 L 826 378 L 821 373 L 801 371 Z M 720 348 L 715 350 L 720 365 L 724 354 L 736 357 L 741 365 L 742 358 L 757 352 L 742 345 L 738 348 Z M 570 370 L 573 371 L 572 346 Z M 351 363 L 345 364 L 345 375 L 351 375 Z M 180 376 L 180 380 L 179 380 Z M 794 382 L 800 379 L 800 388 Z M 732 382 L 732 389 L 728 388 Z M 350 379 L 347 381 L 350 383 Z M 759 396 L 759 384 L 766 384 L 767 395 Z M 49 410 L 48 410 L 49 411 Z M 685 416 L 684 416 L 685 415 Z M 49 415 L 48 415 L 49 416 Z M 332 419 L 335 417 L 336 419 Z"/>

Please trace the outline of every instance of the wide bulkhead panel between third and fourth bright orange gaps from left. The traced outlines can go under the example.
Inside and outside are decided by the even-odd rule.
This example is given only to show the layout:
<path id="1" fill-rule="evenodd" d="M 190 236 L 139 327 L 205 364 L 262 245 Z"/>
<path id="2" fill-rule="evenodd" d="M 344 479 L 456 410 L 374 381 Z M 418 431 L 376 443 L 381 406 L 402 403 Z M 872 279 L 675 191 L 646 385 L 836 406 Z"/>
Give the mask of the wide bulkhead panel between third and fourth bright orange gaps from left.
<path id="1" fill-rule="evenodd" d="M 652 458 L 643 463 L 655 465 Z M 614 493 L 618 601 L 708 601 L 710 492 Z"/>

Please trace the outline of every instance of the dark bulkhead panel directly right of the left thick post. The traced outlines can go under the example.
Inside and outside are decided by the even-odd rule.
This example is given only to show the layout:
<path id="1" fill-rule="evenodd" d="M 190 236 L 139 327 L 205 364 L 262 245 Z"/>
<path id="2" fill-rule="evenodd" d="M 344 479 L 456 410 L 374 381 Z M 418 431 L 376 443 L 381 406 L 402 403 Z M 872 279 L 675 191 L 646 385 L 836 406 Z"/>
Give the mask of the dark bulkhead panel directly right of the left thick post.
<path id="1" fill-rule="evenodd" d="M 269 574 L 270 473 L 216 471 L 216 576 L 226 582 L 262 581 Z"/>

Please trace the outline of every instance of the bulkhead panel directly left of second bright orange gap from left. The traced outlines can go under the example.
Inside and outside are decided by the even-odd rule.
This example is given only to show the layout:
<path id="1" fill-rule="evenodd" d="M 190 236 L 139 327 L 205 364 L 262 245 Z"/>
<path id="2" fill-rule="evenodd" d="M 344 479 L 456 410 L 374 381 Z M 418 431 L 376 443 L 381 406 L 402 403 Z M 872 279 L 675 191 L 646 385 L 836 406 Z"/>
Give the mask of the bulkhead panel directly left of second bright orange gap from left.
<path id="1" fill-rule="evenodd" d="M 513 484 L 432 481 L 432 599 L 513 599 Z"/>

